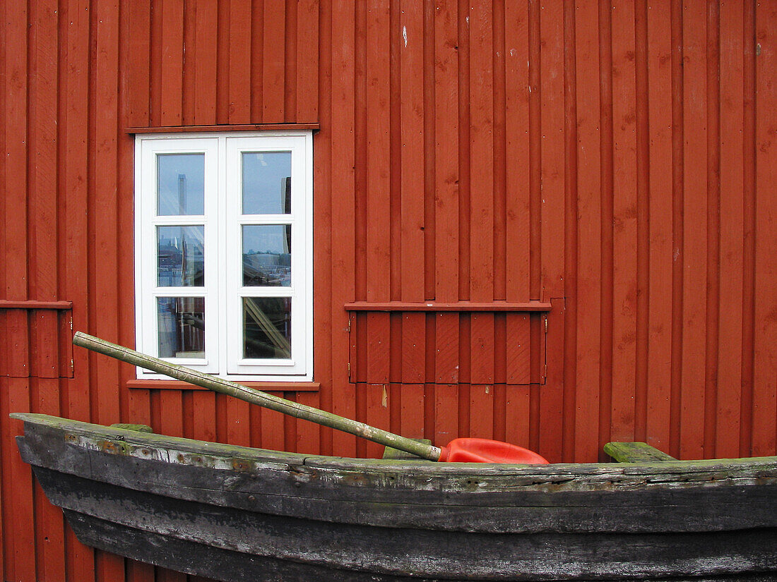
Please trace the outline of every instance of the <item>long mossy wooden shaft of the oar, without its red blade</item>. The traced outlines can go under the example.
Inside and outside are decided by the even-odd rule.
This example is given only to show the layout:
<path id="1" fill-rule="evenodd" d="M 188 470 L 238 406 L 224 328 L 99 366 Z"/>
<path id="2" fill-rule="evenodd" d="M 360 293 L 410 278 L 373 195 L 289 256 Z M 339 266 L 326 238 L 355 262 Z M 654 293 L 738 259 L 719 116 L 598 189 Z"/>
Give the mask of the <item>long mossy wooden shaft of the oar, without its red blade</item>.
<path id="1" fill-rule="evenodd" d="M 186 368 L 183 365 L 172 364 L 165 360 L 154 358 L 151 355 L 141 354 L 141 352 L 135 352 L 130 348 L 125 348 L 123 345 L 112 344 L 110 341 L 96 338 L 82 331 L 75 332 L 73 343 L 93 352 L 110 355 L 111 358 L 116 358 L 128 364 L 139 365 L 141 368 L 159 372 L 171 378 L 183 380 L 183 382 L 188 382 L 195 386 L 202 386 L 208 390 L 227 394 L 240 400 L 246 400 L 246 402 L 269 408 L 272 411 L 288 414 L 295 418 L 302 418 L 305 421 L 315 422 L 315 424 L 321 424 L 329 428 L 336 428 L 350 435 L 366 438 L 368 441 L 377 442 L 380 445 L 392 447 L 392 449 L 409 452 L 411 455 L 420 456 L 423 459 L 430 461 L 440 459 L 441 449 L 434 445 L 417 442 L 412 438 L 395 435 L 392 432 L 372 427 L 363 422 L 352 421 L 349 418 L 343 418 L 331 412 L 319 411 L 318 408 L 312 406 L 298 404 L 297 402 L 273 396 L 260 390 L 254 390 L 248 386 L 242 386 L 242 384 L 211 376 L 205 372 Z"/>

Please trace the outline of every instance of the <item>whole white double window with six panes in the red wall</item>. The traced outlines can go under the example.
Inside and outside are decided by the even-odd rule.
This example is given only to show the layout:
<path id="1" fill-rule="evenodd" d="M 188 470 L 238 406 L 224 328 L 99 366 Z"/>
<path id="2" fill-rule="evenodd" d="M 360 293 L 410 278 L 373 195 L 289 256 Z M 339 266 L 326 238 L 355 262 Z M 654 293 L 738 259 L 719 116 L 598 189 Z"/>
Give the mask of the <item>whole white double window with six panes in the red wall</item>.
<path id="1" fill-rule="evenodd" d="M 141 352 L 312 379 L 312 134 L 136 137 L 135 296 Z"/>

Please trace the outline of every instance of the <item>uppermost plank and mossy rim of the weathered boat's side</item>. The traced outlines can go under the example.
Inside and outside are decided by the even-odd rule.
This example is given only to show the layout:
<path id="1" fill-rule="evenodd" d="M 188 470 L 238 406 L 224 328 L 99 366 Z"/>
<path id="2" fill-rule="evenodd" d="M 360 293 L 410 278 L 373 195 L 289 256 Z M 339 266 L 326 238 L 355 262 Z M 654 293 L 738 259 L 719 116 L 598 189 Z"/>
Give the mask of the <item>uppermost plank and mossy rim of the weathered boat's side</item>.
<path id="1" fill-rule="evenodd" d="M 38 414 L 16 418 L 26 421 L 25 435 L 17 437 L 23 459 L 36 473 L 40 467 L 84 480 L 79 490 L 88 490 L 91 481 L 95 487 L 104 483 L 289 518 L 489 534 L 777 526 L 769 517 L 777 499 L 777 459 L 772 458 L 737 469 L 672 463 L 692 466 L 695 473 L 666 473 L 660 462 L 584 464 L 586 473 L 580 465 L 566 465 L 566 472 L 561 465 L 445 466 L 284 455 Z M 705 500 L 704 511 L 699 499 Z M 753 513 L 754 508 L 759 509 Z"/>

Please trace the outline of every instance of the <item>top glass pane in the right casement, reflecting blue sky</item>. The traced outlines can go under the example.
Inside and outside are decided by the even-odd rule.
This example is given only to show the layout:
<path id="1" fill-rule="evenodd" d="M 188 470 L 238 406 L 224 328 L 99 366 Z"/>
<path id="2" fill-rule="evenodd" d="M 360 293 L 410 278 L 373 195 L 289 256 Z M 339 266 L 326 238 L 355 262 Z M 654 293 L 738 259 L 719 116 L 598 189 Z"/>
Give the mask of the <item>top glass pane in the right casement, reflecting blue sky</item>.
<path id="1" fill-rule="evenodd" d="M 291 213 L 291 151 L 244 153 L 243 214 Z"/>

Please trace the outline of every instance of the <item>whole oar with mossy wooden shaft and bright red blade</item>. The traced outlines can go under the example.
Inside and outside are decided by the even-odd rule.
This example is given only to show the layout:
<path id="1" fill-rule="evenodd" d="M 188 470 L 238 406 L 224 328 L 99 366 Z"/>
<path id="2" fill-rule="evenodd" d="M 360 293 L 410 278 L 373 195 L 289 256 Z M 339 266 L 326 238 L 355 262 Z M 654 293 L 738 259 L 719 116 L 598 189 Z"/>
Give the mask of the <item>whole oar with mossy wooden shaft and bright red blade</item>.
<path id="1" fill-rule="evenodd" d="M 517 462 L 532 464 L 545 464 L 548 462 L 542 456 L 528 449 L 511 445 L 507 442 L 492 441 L 488 438 L 455 438 L 448 443 L 448 446 L 442 448 L 427 445 L 423 442 L 414 441 L 412 438 L 395 435 L 392 432 L 372 427 L 363 422 L 352 421 L 349 418 L 343 418 L 331 412 L 319 411 L 318 408 L 285 400 L 260 390 L 254 390 L 248 386 L 242 386 L 241 384 L 211 376 L 198 370 L 186 368 L 183 365 L 172 364 L 150 355 L 141 354 L 141 352 L 135 352 L 122 345 L 112 344 L 110 341 L 95 338 L 81 331 L 75 333 L 73 343 L 94 352 L 110 355 L 112 358 L 119 359 L 122 362 L 139 365 L 141 368 L 159 372 L 160 374 L 183 380 L 195 386 L 202 386 L 214 392 L 227 394 L 240 400 L 246 400 L 246 402 L 258 404 L 273 411 L 289 414 L 290 416 L 302 418 L 316 424 L 322 424 L 329 428 L 336 428 L 351 435 L 366 438 L 368 441 L 409 452 L 411 455 L 420 456 L 430 461 Z"/>

